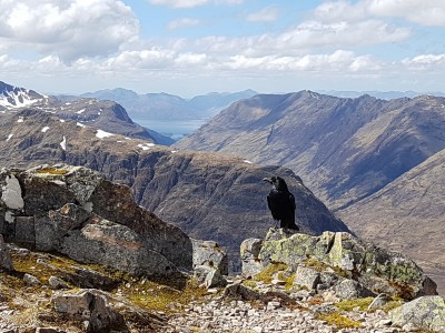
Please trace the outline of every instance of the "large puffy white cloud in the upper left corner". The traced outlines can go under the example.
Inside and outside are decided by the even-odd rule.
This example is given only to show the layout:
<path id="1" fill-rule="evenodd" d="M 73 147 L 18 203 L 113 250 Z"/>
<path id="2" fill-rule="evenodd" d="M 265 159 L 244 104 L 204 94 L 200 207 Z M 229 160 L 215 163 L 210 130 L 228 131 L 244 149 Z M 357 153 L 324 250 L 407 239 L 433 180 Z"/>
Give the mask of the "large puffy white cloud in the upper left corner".
<path id="1" fill-rule="evenodd" d="M 138 20 L 120 0 L 3 0 L 0 22 L 0 38 L 10 48 L 63 61 L 108 56 L 139 33 Z"/>

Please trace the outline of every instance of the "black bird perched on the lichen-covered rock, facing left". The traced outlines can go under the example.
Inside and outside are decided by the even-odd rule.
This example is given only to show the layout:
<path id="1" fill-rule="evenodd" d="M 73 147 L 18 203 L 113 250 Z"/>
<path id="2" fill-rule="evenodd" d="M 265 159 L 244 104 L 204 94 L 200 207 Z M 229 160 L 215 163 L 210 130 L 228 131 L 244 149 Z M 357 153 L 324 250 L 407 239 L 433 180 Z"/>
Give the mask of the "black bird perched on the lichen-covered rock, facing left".
<path id="1" fill-rule="evenodd" d="M 278 220 L 279 228 L 299 230 L 295 224 L 295 196 L 287 189 L 285 180 L 280 176 L 265 178 L 271 184 L 267 195 L 267 205 L 274 220 Z"/>

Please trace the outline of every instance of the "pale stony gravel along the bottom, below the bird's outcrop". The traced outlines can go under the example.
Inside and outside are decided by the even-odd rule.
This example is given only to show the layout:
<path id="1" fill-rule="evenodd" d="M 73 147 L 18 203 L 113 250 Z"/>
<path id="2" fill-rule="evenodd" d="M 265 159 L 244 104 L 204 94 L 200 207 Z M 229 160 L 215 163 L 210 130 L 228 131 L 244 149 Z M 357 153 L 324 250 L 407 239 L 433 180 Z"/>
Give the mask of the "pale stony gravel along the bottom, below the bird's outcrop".
<path id="1" fill-rule="evenodd" d="M 386 313 L 380 310 L 349 312 L 345 316 L 350 317 L 360 327 L 339 329 L 316 319 L 320 310 L 325 312 L 333 307 L 330 303 L 315 305 L 301 302 L 300 306 L 281 306 L 279 301 L 257 304 L 215 297 L 207 303 L 191 303 L 185 313 L 171 315 L 168 321 L 170 327 L 166 329 L 166 332 L 411 332 L 409 327 L 392 327 Z"/>

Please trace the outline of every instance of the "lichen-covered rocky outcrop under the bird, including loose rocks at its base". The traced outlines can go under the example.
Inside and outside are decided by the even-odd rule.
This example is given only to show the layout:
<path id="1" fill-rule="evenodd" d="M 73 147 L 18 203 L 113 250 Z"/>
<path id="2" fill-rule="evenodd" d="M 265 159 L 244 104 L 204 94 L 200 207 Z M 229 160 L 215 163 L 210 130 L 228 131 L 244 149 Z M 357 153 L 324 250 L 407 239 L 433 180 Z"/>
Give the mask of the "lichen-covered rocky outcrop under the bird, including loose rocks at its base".
<path id="1" fill-rule="evenodd" d="M 257 242 L 247 240 L 244 246 L 249 244 Z M 344 232 L 310 236 L 271 229 L 259 252 L 244 253 L 248 254 L 241 256 L 246 274 L 254 273 L 251 261 L 257 265 L 256 273 L 283 263 L 295 273 L 295 284 L 317 292 L 333 290 L 340 299 L 387 293 L 412 300 L 436 294 L 436 284 L 415 262 Z"/>

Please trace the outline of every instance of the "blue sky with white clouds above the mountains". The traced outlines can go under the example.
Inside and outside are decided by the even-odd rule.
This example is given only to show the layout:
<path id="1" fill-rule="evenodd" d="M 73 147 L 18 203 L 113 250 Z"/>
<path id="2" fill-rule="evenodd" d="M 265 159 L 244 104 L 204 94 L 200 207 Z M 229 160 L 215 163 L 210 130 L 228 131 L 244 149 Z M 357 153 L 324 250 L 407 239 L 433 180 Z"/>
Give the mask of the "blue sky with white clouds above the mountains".
<path id="1" fill-rule="evenodd" d="M 445 1 L 0 0 L 0 81 L 182 98 L 445 92 Z"/>

